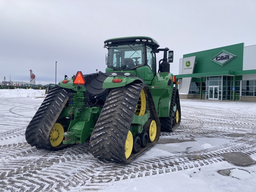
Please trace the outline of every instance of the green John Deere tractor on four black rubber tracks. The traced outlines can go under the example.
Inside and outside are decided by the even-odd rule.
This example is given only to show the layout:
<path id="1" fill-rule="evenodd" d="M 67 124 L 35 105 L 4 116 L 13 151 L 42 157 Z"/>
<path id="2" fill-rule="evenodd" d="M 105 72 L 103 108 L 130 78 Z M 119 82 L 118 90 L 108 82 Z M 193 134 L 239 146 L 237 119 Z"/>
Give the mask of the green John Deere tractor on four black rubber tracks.
<path id="1" fill-rule="evenodd" d="M 156 144 L 160 131 L 179 126 L 173 51 L 146 36 L 105 40 L 104 48 L 106 72 L 65 76 L 28 124 L 28 144 L 55 150 L 89 140 L 94 157 L 127 164 Z"/>

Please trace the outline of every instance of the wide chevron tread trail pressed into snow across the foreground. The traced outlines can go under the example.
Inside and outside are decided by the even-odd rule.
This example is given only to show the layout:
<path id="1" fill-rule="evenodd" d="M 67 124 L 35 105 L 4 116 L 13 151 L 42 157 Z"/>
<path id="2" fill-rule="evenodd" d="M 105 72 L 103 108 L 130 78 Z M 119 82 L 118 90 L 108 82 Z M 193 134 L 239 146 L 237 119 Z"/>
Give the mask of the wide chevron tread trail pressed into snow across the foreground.
<path id="1" fill-rule="evenodd" d="M 87 184 L 90 184 L 90 189 L 97 190 L 98 183 L 104 184 L 215 164 L 224 161 L 222 155 L 226 152 L 246 151 L 254 154 L 256 153 L 256 139 L 245 142 L 244 140 L 234 141 L 231 144 L 196 152 L 137 161 L 128 165 L 96 160 L 84 147 L 87 148 L 88 144 L 87 146 L 74 146 L 73 150 L 58 152 L 40 150 L 39 154 L 44 155 L 41 157 L 35 151 L 30 151 L 26 153 L 25 158 L 21 156 L 23 154 L 21 152 L 19 158 L 11 158 L 4 164 L 4 169 L 0 172 L 0 180 L 12 178 L 12 181 L 19 181 L 18 183 L 27 182 L 26 184 L 29 183 L 33 190 L 48 190 L 51 186 L 57 191 L 64 188 L 68 191 L 78 185 Z M 32 162 L 31 159 L 33 159 Z M 40 179 L 35 180 L 34 175 Z M 44 179 L 41 180 L 41 178 Z M 77 178 L 80 178 L 79 182 Z M 13 186 L 13 189 L 15 187 Z"/>

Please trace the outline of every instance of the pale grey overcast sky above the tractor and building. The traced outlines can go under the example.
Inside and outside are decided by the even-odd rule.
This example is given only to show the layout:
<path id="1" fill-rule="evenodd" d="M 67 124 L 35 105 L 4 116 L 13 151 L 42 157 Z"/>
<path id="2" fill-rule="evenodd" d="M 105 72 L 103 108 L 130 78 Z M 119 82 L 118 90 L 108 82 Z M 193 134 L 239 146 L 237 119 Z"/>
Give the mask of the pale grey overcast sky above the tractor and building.
<path id="1" fill-rule="evenodd" d="M 104 40 L 150 36 L 183 54 L 256 44 L 256 0 L 0 0 L 0 81 L 105 71 Z M 161 52 L 159 54 L 162 54 Z M 157 56 L 161 59 L 161 56 Z"/>

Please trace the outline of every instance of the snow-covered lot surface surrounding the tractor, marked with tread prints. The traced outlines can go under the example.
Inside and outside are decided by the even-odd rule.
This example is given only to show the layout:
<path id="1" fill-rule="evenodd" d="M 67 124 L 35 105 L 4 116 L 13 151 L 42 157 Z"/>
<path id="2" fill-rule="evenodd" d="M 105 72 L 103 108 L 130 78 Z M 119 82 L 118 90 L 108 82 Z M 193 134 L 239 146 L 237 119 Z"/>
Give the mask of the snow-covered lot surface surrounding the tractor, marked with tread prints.
<path id="1" fill-rule="evenodd" d="M 256 160 L 256 103 L 180 100 L 182 120 L 131 164 L 95 159 L 88 144 L 37 150 L 24 132 L 44 90 L 0 89 L 0 192 L 254 192 L 256 164 L 229 163 L 226 153 Z"/>

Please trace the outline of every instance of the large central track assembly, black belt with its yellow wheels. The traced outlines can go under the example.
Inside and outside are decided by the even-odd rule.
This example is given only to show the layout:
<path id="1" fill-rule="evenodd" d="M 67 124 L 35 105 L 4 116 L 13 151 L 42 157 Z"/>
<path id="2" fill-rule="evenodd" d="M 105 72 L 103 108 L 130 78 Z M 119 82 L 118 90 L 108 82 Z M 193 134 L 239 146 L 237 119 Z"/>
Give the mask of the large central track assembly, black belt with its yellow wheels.
<path id="1" fill-rule="evenodd" d="M 146 111 L 149 117 L 142 132 L 132 135 L 134 114 L 144 116 Z M 160 122 L 148 86 L 131 84 L 109 93 L 92 132 L 90 150 L 96 158 L 126 164 L 156 144 L 159 136 Z"/>

